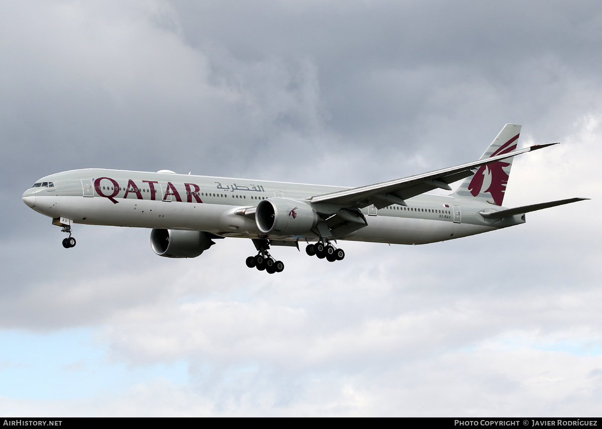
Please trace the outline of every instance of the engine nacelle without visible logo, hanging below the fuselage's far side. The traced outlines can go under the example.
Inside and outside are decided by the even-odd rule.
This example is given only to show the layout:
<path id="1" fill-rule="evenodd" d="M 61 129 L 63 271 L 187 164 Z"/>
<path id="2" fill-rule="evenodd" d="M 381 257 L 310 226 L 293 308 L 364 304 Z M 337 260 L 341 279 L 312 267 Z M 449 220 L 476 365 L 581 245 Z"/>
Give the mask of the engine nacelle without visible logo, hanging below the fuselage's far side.
<path id="1" fill-rule="evenodd" d="M 153 252 L 166 258 L 196 258 L 203 251 L 216 244 L 202 231 L 181 231 L 177 229 L 153 229 L 151 247 Z"/>

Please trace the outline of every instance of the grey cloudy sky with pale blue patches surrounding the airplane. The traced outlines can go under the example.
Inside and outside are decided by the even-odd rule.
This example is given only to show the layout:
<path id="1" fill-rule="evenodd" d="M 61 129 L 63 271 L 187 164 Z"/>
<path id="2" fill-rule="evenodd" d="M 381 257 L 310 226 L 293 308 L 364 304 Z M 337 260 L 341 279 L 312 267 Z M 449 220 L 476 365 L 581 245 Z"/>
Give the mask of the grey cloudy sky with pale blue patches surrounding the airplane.
<path id="1" fill-rule="evenodd" d="M 585 416 L 602 402 L 599 1 L 0 5 L 0 415 Z M 591 201 L 421 246 L 149 230 L 20 196 L 101 167 L 355 187 L 519 146 L 504 205 Z"/>

